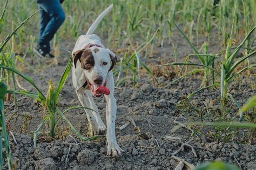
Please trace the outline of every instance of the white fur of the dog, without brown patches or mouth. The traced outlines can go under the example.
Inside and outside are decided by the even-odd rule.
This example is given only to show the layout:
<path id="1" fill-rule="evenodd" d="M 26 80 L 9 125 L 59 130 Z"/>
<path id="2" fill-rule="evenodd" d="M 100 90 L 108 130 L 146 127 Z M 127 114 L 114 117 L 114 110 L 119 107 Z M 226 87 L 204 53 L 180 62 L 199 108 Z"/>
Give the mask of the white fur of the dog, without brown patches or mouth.
<path id="1" fill-rule="evenodd" d="M 90 124 L 91 135 L 97 135 L 102 131 L 106 131 L 106 139 L 107 139 L 107 155 L 112 155 L 114 157 L 118 157 L 122 155 L 123 150 L 118 146 L 116 140 L 116 132 L 115 132 L 115 121 L 116 121 L 116 112 L 117 112 L 117 103 L 116 98 L 114 98 L 114 80 L 112 71 L 109 72 L 111 66 L 110 54 L 114 55 L 109 49 L 106 49 L 105 46 L 100 42 L 100 38 L 97 35 L 91 35 L 93 31 L 96 29 L 99 22 L 102 18 L 112 9 L 112 5 L 109 6 L 105 11 L 103 11 L 99 17 L 96 19 L 95 23 L 92 24 L 91 28 L 87 31 L 86 35 L 81 35 L 76 42 L 76 45 L 72 51 L 72 54 L 75 51 L 82 50 L 87 44 L 98 44 L 102 46 L 100 47 L 90 47 L 93 57 L 95 59 L 95 66 L 89 72 L 87 70 L 83 70 L 81 68 L 81 64 L 78 60 L 76 68 L 75 64 L 72 67 L 72 80 L 73 86 L 77 90 L 83 86 L 86 81 L 86 78 L 93 84 L 93 78 L 96 76 L 102 76 L 104 78 L 103 83 L 107 81 L 106 87 L 109 88 L 110 94 L 104 95 L 106 98 L 106 124 L 107 128 L 104 125 L 100 115 L 97 113 L 98 108 L 93 101 L 92 93 L 90 90 L 85 90 L 84 94 L 79 94 L 77 92 L 78 99 L 83 106 L 90 106 L 96 112 L 85 110 L 87 119 Z M 93 50 L 97 48 L 98 52 L 93 52 Z M 103 65 L 102 63 L 106 62 L 107 65 Z M 97 86 L 97 85 L 93 85 Z"/>

